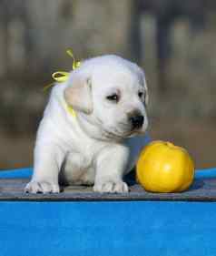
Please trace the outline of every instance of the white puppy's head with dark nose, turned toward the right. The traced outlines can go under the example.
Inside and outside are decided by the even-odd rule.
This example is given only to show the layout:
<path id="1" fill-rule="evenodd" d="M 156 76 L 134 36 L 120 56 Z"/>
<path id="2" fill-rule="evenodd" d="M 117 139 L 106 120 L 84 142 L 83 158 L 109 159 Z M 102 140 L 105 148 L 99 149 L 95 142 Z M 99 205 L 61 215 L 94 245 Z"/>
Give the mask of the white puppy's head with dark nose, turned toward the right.
<path id="1" fill-rule="evenodd" d="M 140 67 L 119 56 L 99 56 L 85 61 L 68 83 L 65 100 L 94 137 L 127 138 L 145 132 L 148 91 Z"/>

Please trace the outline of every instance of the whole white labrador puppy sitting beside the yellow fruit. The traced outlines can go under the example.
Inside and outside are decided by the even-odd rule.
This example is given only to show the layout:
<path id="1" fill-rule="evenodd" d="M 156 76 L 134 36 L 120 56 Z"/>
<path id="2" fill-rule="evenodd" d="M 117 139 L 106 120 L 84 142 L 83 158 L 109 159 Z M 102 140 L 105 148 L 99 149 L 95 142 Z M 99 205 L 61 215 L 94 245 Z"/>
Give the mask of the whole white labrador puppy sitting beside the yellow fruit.
<path id="1" fill-rule="evenodd" d="M 120 56 L 83 61 L 52 89 L 37 132 L 34 175 L 25 191 L 58 193 L 62 182 L 127 192 L 123 175 L 144 146 L 147 101 L 144 73 L 137 65 Z"/>

